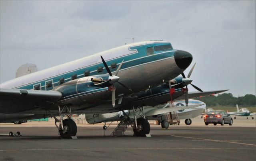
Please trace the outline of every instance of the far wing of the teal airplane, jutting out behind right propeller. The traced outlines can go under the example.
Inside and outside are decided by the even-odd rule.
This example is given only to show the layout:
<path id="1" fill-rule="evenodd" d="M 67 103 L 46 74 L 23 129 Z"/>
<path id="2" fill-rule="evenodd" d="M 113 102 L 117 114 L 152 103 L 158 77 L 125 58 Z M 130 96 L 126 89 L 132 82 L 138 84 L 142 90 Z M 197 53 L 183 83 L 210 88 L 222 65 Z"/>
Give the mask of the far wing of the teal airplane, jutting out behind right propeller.
<path id="1" fill-rule="evenodd" d="M 191 99 L 191 98 L 198 98 L 203 96 L 210 96 L 210 95 L 218 94 L 225 91 L 227 90 L 208 90 L 204 92 L 199 92 L 199 91 L 188 92 L 188 98 Z M 185 99 L 185 93 L 182 96 L 175 98 L 175 100 L 184 100 L 184 99 Z"/>

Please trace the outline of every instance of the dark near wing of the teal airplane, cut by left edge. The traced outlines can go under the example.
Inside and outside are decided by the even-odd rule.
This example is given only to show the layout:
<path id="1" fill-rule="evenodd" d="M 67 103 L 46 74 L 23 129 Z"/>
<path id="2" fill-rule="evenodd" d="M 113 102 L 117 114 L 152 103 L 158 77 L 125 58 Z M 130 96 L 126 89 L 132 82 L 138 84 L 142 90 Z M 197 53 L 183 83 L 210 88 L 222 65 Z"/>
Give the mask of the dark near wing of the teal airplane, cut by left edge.
<path id="1" fill-rule="evenodd" d="M 57 91 L 0 89 L 0 113 L 10 114 L 43 108 L 62 97 Z"/>

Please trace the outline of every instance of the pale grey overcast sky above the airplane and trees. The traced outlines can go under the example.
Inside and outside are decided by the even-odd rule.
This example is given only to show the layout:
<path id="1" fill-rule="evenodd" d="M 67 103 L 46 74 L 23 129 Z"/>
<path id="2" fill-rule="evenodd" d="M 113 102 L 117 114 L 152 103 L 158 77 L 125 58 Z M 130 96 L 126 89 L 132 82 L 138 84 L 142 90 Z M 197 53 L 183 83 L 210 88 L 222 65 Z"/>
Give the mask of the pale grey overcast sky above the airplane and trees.
<path id="1" fill-rule="evenodd" d="M 0 82 L 135 42 L 163 39 L 193 55 L 202 90 L 256 92 L 256 1 L 0 1 Z M 195 89 L 189 86 L 190 91 Z"/>

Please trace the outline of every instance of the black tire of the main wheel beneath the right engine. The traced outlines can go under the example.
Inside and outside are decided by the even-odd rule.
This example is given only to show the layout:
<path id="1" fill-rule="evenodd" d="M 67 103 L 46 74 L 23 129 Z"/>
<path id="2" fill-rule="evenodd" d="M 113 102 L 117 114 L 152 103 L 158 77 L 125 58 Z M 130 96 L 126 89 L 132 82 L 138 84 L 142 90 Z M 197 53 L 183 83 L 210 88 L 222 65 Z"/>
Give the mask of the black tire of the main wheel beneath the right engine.
<path id="1" fill-rule="evenodd" d="M 148 120 L 146 120 L 144 118 L 138 118 L 137 125 L 138 125 L 138 128 L 133 129 L 133 132 L 136 136 L 145 136 L 146 134 L 149 134 L 150 124 L 148 123 Z"/>

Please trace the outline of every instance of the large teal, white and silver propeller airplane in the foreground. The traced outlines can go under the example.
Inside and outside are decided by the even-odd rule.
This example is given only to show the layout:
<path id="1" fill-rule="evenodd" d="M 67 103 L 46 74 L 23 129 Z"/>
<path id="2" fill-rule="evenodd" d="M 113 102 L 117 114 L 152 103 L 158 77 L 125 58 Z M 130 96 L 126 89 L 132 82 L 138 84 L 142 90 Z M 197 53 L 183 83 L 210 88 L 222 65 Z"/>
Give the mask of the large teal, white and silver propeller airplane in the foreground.
<path id="1" fill-rule="evenodd" d="M 72 119 L 63 120 L 64 115 L 141 106 L 145 97 L 138 92 L 177 77 L 191 61 L 190 53 L 173 49 L 169 42 L 144 41 L 24 75 L 0 84 L 0 122 L 52 116 L 61 137 L 69 138 L 77 128 Z M 138 124 L 149 133 L 145 121 L 137 124 L 134 119 L 134 124 L 137 135 L 145 133 Z"/>

